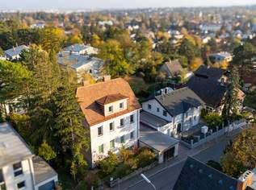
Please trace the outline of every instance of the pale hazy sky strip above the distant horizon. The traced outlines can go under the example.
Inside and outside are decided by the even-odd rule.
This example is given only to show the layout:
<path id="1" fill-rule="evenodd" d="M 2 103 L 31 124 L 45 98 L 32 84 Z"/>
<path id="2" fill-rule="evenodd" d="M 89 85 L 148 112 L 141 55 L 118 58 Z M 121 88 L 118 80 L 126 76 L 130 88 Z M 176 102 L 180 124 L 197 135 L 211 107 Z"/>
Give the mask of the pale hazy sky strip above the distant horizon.
<path id="1" fill-rule="evenodd" d="M 0 0 L 1 10 L 256 5 L 256 0 Z"/>

